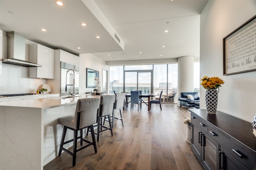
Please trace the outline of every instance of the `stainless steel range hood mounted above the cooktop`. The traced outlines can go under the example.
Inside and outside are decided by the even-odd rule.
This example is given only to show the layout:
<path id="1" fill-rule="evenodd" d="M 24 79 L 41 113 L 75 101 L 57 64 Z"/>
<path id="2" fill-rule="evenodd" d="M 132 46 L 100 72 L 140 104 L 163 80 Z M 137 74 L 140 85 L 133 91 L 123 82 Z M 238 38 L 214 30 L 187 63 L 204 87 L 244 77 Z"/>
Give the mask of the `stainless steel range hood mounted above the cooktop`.
<path id="1" fill-rule="evenodd" d="M 25 46 L 24 35 L 14 31 L 7 32 L 7 59 L 2 59 L 2 63 L 25 67 L 41 67 L 40 64 L 26 61 Z"/>

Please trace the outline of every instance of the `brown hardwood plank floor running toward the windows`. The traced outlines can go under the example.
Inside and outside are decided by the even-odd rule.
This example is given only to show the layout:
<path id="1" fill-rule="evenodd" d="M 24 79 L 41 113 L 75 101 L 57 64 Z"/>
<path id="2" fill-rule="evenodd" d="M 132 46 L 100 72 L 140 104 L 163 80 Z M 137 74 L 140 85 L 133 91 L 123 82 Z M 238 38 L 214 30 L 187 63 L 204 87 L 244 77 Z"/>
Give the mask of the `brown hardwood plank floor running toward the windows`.
<path id="1" fill-rule="evenodd" d="M 44 170 L 203 169 L 186 142 L 187 125 L 183 121 L 190 117 L 187 107 L 162 104 L 162 111 L 159 104 L 152 104 L 150 111 L 145 104 L 139 111 L 137 107 L 130 111 L 128 106 L 122 111 L 124 125 L 114 122 L 114 136 L 110 131 L 100 133 L 98 153 L 94 153 L 93 146 L 79 151 L 76 166 L 72 167 L 72 156 L 64 152 Z M 90 135 L 86 138 L 91 141 Z"/>

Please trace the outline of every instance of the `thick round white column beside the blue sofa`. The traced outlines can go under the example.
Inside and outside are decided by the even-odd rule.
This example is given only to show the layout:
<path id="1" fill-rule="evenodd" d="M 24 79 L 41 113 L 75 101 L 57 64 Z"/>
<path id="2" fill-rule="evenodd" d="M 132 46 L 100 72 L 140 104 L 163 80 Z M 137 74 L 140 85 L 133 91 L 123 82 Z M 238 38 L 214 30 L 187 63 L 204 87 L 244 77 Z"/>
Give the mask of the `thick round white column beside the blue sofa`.
<path id="1" fill-rule="evenodd" d="M 178 58 L 178 92 L 194 92 L 194 56 L 183 56 Z M 178 106 L 180 102 L 178 101 Z"/>

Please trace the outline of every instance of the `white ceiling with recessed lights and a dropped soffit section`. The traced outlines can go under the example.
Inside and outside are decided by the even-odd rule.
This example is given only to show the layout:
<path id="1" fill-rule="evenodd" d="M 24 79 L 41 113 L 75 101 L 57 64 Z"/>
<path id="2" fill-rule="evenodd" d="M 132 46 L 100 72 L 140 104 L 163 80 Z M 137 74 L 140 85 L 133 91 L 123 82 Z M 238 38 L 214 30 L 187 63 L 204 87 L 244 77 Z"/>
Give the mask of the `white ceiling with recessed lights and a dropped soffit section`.
<path id="1" fill-rule="evenodd" d="M 199 14 L 208 0 L 62 0 L 63 6 L 54 2 L 0 0 L 0 29 L 54 49 L 92 53 L 104 61 L 199 57 Z"/>

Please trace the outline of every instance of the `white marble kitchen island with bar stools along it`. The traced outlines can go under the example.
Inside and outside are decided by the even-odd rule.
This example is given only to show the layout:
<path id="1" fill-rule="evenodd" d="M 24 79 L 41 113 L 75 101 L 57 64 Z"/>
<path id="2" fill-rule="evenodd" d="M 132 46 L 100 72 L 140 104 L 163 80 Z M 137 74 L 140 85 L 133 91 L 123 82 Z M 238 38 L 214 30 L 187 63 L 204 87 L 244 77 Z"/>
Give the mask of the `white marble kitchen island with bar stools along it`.
<path id="1" fill-rule="evenodd" d="M 77 100 L 92 97 L 99 96 L 0 103 L 0 169 L 43 170 L 58 156 L 63 129 L 58 118 L 74 115 Z M 66 139 L 72 138 L 68 131 Z"/>

